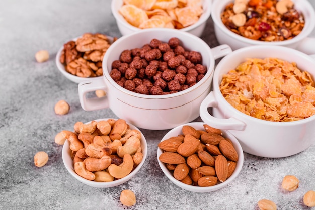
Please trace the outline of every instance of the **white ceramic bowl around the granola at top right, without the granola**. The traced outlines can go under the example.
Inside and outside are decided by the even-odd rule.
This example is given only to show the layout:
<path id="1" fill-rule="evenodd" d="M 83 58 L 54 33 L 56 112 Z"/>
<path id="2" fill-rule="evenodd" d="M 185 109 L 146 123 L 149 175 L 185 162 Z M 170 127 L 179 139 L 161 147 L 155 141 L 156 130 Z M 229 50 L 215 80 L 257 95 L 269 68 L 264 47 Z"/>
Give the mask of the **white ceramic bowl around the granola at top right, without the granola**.
<path id="1" fill-rule="evenodd" d="M 264 42 L 258 40 L 251 40 L 241 35 L 235 34 L 230 31 L 222 23 L 221 13 L 224 11 L 225 6 L 233 2 L 232 0 L 220 0 L 214 1 L 211 10 L 211 18 L 214 22 L 214 32 L 217 41 L 220 44 L 229 45 L 232 50 L 236 50 L 242 47 L 251 45 L 271 45 L 271 46 L 285 46 L 290 48 L 297 48 L 298 50 L 306 54 L 315 54 L 315 37 L 309 37 L 310 33 L 315 27 L 315 12 L 312 5 L 307 0 L 292 0 L 294 2 L 294 8 L 304 15 L 305 26 L 301 33 L 290 40 L 278 41 L 278 42 Z"/>

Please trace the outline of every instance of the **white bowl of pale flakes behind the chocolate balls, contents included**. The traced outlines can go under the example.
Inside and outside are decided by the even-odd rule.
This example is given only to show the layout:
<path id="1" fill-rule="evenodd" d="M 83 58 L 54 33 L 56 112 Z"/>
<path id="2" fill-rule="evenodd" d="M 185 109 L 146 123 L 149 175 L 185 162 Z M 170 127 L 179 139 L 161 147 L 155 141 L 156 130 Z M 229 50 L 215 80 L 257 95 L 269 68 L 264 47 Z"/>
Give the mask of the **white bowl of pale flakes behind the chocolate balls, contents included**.
<path id="1" fill-rule="evenodd" d="M 172 28 L 202 35 L 212 1 L 113 0 L 112 13 L 122 35 L 146 28 Z"/>

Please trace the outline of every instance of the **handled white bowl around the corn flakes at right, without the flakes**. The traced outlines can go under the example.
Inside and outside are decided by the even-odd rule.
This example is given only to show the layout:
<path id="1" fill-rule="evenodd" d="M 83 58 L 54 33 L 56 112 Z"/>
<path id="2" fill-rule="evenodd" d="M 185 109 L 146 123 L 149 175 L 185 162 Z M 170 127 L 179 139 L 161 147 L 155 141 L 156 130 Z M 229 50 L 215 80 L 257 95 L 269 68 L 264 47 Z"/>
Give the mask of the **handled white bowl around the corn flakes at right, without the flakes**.
<path id="1" fill-rule="evenodd" d="M 297 67 L 315 77 L 315 60 L 297 50 L 282 46 L 250 46 L 235 50 L 217 65 L 213 90 L 200 106 L 200 117 L 208 125 L 226 129 L 235 136 L 244 152 L 261 157 L 286 157 L 315 143 L 315 116 L 292 122 L 271 122 L 246 115 L 232 107 L 219 89 L 222 76 L 246 58 L 268 58 L 295 62 Z M 212 115 L 208 108 L 212 108 Z"/>

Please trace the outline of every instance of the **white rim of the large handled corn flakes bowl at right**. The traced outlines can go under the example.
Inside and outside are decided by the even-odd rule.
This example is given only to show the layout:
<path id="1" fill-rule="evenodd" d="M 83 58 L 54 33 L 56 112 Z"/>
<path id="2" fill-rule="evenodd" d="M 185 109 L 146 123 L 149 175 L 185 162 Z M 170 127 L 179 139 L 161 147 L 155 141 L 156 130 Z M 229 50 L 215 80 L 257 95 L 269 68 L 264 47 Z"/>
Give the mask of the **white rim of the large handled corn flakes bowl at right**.
<path id="1" fill-rule="evenodd" d="M 286 50 L 289 53 L 295 53 L 296 55 L 300 56 L 300 57 L 304 57 L 306 60 L 309 60 L 310 62 L 314 63 L 315 66 L 315 60 L 312 59 L 310 56 L 308 56 L 307 54 L 300 52 L 298 50 L 292 49 L 292 48 L 288 48 L 288 47 L 284 47 L 284 46 L 271 46 L 271 45 L 252 45 L 252 46 L 247 46 L 247 47 L 243 47 L 237 50 L 234 50 L 233 52 L 231 52 L 230 54 L 226 55 L 225 57 L 223 57 L 220 62 L 217 64 L 217 66 L 215 67 L 215 72 L 213 75 L 213 81 L 212 81 L 212 85 L 213 87 L 216 86 L 218 87 L 218 84 L 220 81 L 218 81 L 219 79 L 219 74 L 220 71 L 218 70 L 219 68 L 221 68 L 222 65 L 224 65 L 224 62 L 228 62 L 228 60 L 233 59 L 234 56 L 238 55 L 238 54 L 242 54 L 244 52 L 248 52 L 251 50 L 257 50 L 257 49 L 270 49 L 270 50 Z M 268 56 L 266 56 L 268 57 Z M 235 66 L 236 67 L 236 66 Z M 311 75 L 314 78 L 315 75 Z M 259 124 L 264 124 L 264 125 L 274 125 L 274 126 L 294 126 L 294 125 L 299 125 L 299 124 L 303 124 L 303 123 L 307 123 L 309 121 L 313 121 L 315 120 L 315 115 L 310 116 L 308 118 L 305 119 L 301 119 L 301 120 L 296 120 L 296 121 L 287 121 L 287 122 L 274 122 L 274 121 L 268 121 L 268 120 L 262 120 L 262 119 L 258 119 L 249 115 L 246 115 L 245 113 L 235 109 L 231 104 L 229 104 L 227 102 L 227 100 L 223 97 L 223 95 L 221 94 L 221 91 L 219 90 L 219 88 L 217 89 L 217 91 L 211 90 L 211 92 L 213 92 L 215 94 L 215 97 L 219 97 L 220 103 L 222 104 L 222 107 L 228 107 L 230 110 L 233 110 L 234 113 L 237 113 L 238 115 L 242 116 L 242 118 L 249 120 L 251 122 L 255 122 L 255 123 L 259 123 Z M 217 94 L 216 94 L 217 93 Z"/>

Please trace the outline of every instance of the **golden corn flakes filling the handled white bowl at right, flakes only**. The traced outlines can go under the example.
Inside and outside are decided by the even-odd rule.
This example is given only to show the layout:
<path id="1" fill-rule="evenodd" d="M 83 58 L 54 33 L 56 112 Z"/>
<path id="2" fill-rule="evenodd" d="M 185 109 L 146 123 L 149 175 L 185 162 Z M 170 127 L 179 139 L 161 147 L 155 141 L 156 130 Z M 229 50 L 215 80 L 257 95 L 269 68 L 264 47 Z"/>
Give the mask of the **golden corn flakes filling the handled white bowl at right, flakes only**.
<path id="1" fill-rule="evenodd" d="M 315 87 L 296 63 L 248 58 L 223 75 L 220 90 L 237 110 L 268 121 L 295 121 L 315 114 Z"/>

